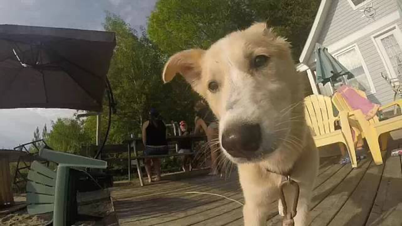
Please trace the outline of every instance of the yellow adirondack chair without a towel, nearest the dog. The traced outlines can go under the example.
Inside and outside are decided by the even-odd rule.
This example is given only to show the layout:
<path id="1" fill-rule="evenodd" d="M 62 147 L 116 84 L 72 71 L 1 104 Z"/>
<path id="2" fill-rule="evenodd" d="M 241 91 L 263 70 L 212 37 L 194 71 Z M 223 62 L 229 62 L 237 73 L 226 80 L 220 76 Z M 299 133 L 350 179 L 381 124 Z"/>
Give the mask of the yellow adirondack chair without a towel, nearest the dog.
<path id="1" fill-rule="evenodd" d="M 314 132 L 313 138 L 317 147 L 339 143 L 344 153 L 345 144 L 351 158 L 352 167 L 357 166 L 356 151 L 353 145 L 351 128 L 348 122 L 347 112 L 340 111 L 334 117 L 331 98 L 323 95 L 310 95 L 304 99 L 304 111 L 307 125 Z M 335 129 L 335 121 L 339 121 L 341 129 Z M 343 143 L 343 144 L 341 144 Z"/>

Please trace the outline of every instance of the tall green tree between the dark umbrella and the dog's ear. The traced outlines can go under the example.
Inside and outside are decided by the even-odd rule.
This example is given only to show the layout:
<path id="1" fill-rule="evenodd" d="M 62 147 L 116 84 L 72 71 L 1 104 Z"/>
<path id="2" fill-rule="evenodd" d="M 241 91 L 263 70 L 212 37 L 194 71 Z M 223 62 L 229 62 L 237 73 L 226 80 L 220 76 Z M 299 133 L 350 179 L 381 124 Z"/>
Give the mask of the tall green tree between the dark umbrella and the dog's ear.
<path id="1" fill-rule="evenodd" d="M 190 120 L 193 104 L 199 97 L 191 92 L 184 81 L 163 84 L 161 74 L 166 57 L 148 39 L 144 30 L 133 30 L 115 14 L 107 13 L 106 31 L 116 33 L 117 45 L 109 67 L 108 78 L 117 102 L 108 142 L 120 143 L 129 134 L 141 133 L 141 123 L 147 119 L 150 107 L 156 107 L 165 122 Z M 102 114 L 102 137 L 105 135 L 108 107 L 105 101 Z M 96 117 L 84 123 L 91 141 L 95 141 Z"/>

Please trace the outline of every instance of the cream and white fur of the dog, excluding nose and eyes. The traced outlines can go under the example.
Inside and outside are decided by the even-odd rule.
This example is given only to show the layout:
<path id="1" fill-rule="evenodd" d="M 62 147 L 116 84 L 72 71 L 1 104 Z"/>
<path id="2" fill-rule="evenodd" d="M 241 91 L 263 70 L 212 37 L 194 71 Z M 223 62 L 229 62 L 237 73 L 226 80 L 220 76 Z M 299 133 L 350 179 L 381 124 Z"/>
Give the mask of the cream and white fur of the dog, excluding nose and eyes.
<path id="1" fill-rule="evenodd" d="M 269 57 L 260 68 L 251 67 L 256 55 Z M 238 165 L 245 205 L 246 226 L 265 225 L 272 201 L 279 199 L 279 185 L 290 173 L 299 183 L 296 226 L 308 224 L 308 204 L 318 171 L 318 152 L 306 126 L 303 89 L 291 59 L 290 44 L 265 23 L 235 31 L 208 50 L 189 49 L 166 63 L 163 80 L 179 73 L 202 95 L 219 119 L 219 139 L 228 125 L 258 123 L 262 143 L 255 157 L 225 155 Z M 209 82 L 216 81 L 216 92 Z M 267 171 L 268 170 L 268 171 Z M 286 200 L 293 199 L 291 190 Z M 291 201 L 287 201 L 290 208 Z M 279 201 L 281 210 L 281 202 Z"/>

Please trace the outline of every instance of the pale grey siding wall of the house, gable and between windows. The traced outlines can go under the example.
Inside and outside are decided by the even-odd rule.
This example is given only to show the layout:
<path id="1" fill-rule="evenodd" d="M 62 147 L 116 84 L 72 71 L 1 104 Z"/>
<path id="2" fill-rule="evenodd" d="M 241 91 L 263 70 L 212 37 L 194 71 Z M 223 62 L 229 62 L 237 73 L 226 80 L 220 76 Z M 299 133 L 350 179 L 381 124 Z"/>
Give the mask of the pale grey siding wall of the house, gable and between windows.
<path id="1" fill-rule="evenodd" d="M 330 11 L 326 16 L 326 21 L 318 38 L 318 43 L 329 47 L 330 53 L 357 44 L 376 91 L 374 95 L 369 96 L 369 99 L 381 104 L 391 102 L 394 93 L 390 85 L 381 77 L 381 72 L 387 74 L 387 71 L 371 36 L 394 24 L 397 24 L 399 29 L 402 28 L 402 19 L 400 17 L 397 20 L 389 19 L 394 18 L 392 15 L 395 14 L 392 13 L 398 10 L 397 1 L 402 0 L 370 1 L 376 9 L 375 19 L 373 20 L 372 18 L 362 18 L 363 12 L 359 11 L 362 7 L 353 10 L 348 0 L 332 0 Z M 384 24 L 382 23 L 383 21 Z M 373 25 L 375 22 L 377 22 L 377 26 L 372 31 L 365 32 L 362 37 L 358 36 L 359 31 L 363 29 L 367 31 L 367 26 Z M 379 23 L 381 23 L 381 26 L 378 26 Z M 340 40 L 348 36 L 356 38 L 339 43 Z M 309 65 L 314 62 L 314 58 L 315 56 L 312 54 L 308 61 Z"/>

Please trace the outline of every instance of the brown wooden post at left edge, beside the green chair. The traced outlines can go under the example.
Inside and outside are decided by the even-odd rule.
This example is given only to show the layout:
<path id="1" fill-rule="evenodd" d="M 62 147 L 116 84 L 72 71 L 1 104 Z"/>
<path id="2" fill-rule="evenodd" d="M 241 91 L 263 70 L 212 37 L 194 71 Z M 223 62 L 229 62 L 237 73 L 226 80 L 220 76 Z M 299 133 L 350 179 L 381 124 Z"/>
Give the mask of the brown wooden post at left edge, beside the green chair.
<path id="1" fill-rule="evenodd" d="M 0 156 L 0 206 L 14 205 L 8 156 Z"/>

